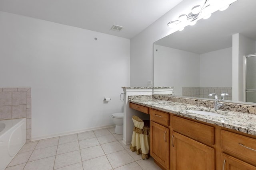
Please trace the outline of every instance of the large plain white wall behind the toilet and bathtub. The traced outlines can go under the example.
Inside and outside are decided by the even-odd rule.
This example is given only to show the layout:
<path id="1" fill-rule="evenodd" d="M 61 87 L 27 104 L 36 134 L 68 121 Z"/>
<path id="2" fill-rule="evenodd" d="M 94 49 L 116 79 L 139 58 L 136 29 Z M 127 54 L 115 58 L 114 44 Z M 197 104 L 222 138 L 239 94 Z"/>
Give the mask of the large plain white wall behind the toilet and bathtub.
<path id="1" fill-rule="evenodd" d="M 113 125 L 129 39 L 5 12 L 0 25 L 0 87 L 32 88 L 32 140 Z"/>

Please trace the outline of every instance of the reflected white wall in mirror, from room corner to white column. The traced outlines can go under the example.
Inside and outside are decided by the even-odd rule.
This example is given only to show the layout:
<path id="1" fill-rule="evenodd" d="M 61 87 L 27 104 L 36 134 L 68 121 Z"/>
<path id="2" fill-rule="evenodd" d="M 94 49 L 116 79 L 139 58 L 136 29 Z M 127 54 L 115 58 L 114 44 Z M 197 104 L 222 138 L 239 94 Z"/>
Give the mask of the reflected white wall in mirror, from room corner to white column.
<path id="1" fill-rule="evenodd" d="M 232 47 L 200 55 L 200 87 L 232 87 Z"/>

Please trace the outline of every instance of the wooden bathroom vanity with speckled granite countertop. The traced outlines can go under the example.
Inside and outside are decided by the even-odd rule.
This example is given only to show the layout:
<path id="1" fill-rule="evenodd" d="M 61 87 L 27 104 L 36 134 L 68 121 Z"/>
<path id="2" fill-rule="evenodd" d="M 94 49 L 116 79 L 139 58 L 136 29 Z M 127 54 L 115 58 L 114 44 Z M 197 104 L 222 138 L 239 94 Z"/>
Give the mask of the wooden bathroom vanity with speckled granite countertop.
<path id="1" fill-rule="evenodd" d="M 162 95 L 129 101 L 130 108 L 150 114 L 150 156 L 162 169 L 256 170 L 255 106 L 222 103 L 216 111 L 210 100 Z"/>

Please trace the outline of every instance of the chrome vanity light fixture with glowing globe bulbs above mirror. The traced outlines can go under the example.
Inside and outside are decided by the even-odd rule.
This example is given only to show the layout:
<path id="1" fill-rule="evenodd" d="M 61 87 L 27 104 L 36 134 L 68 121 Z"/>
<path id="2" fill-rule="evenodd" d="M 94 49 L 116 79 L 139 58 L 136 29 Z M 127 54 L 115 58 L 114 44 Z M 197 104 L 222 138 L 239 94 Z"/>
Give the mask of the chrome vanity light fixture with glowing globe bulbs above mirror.
<path id="1" fill-rule="evenodd" d="M 236 1 L 236 0 L 234 0 L 234 1 Z M 218 9 L 218 7 L 216 7 L 216 2 L 214 2 L 215 4 L 213 4 L 212 1 L 210 1 L 210 3 L 209 3 L 209 0 L 205 0 L 203 6 L 200 6 L 200 5 L 194 6 L 188 15 L 182 14 L 179 16 L 178 20 L 170 21 L 167 23 L 167 25 L 170 28 L 176 28 L 176 30 L 178 29 L 179 31 L 182 31 L 184 29 L 184 27 L 186 27 L 187 25 L 195 25 L 196 21 L 200 20 L 201 18 L 204 18 L 204 19 L 210 18 L 210 16 L 212 15 L 212 12 L 213 12 L 211 8 L 215 7 L 214 9 L 217 8 L 216 10 L 222 11 L 222 10 L 226 10 L 230 6 L 230 4 L 228 4 L 227 6 Z M 222 4 L 222 2 L 220 2 L 220 0 L 218 3 Z M 230 3 L 232 3 L 232 2 L 230 2 Z M 210 9 L 208 9 L 209 6 L 210 6 Z M 202 14 L 202 16 L 201 16 L 201 14 Z"/>

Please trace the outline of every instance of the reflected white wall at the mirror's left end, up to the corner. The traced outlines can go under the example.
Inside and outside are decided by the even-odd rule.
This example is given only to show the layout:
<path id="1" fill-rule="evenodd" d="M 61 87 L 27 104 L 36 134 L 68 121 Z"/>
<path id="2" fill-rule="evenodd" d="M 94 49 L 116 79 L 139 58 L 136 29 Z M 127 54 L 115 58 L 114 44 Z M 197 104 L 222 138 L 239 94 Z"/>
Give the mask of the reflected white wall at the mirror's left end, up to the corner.
<path id="1" fill-rule="evenodd" d="M 182 96 L 182 87 L 199 87 L 199 71 L 198 54 L 154 45 L 154 86 L 174 86 Z"/>

